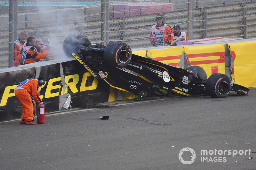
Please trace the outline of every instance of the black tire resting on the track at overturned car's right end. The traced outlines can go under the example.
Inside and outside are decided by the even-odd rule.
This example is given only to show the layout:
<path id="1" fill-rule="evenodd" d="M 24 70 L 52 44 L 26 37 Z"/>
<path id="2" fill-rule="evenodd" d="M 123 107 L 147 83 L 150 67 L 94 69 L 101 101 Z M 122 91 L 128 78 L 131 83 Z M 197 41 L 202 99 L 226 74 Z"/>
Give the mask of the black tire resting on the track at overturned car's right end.
<path id="1" fill-rule="evenodd" d="M 206 94 L 212 98 L 225 98 L 231 90 L 231 80 L 225 74 L 214 73 L 206 81 Z"/>

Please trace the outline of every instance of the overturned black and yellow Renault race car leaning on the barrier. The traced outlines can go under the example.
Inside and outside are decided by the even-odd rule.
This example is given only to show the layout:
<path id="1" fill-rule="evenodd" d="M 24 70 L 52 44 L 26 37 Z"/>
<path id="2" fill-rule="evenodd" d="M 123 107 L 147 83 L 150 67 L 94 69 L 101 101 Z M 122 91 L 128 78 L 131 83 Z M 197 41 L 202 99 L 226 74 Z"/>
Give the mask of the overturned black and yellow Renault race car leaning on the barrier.
<path id="1" fill-rule="evenodd" d="M 109 42 L 107 46 L 102 46 L 91 44 L 85 35 L 70 34 L 64 40 L 63 50 L 68 57 L 75 57 L 98 80 L 137 95 L 138 101 L 146 94 L 167 96 L 178 93 L 224 98 L 230 91 L 240 95 L 248 95 L 249 92 L 248 88 L 231 83 L 225 74 L 215 73 L 207 79 L 202 67 L 182 69 L 141 57 L 132 54 L 125 43 Z"/>

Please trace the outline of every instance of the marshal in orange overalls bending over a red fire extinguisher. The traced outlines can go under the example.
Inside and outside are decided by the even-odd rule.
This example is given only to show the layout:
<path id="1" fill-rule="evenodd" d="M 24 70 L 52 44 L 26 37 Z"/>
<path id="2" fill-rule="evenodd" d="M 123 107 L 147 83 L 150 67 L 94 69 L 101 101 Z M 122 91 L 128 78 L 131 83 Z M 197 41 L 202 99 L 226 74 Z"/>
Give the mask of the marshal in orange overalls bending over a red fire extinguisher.
<path id="1" fill-rule="evenodd" d="M 42 99 L 38 94 L 39 86 L 44 85 L 44 77 L 37 79 L 27 79 L 22 81 L 15 89 L 14 94 L 22 105 L 22 115 L 20 124 L 35 125 L 33 122 L 34 104 L 32 99 L 39 105 L 44 105 Z"/>

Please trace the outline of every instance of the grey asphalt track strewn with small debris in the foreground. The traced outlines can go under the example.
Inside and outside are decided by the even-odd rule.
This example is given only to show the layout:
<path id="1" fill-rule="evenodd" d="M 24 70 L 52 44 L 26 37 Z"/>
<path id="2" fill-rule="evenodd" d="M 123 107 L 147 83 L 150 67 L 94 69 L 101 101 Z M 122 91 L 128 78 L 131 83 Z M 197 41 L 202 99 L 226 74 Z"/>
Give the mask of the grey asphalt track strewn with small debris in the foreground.
<path id="1" fill-rule="evenodd" d="M 1 169 L 256 169 L 255 99 L 254 88 L 249 96 L 233 92 L 224 99 L 104 103 L 47 114 L 34 126 L 2 122 Z"/>

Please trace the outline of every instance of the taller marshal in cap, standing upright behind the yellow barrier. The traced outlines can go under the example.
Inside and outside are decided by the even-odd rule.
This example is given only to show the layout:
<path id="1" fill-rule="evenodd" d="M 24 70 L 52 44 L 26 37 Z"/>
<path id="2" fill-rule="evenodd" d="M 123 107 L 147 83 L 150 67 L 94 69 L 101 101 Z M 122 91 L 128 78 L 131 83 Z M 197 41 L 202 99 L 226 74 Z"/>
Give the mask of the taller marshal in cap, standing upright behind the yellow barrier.
<path id="1" fill-rule="evenodd" d="M 164 17 L 162 15 L 156 16 L 156 24 L 152 26 L 150 32 L 150 42 L 153 46 L 169 45 L 172 28 L 164 24 Z"/>

